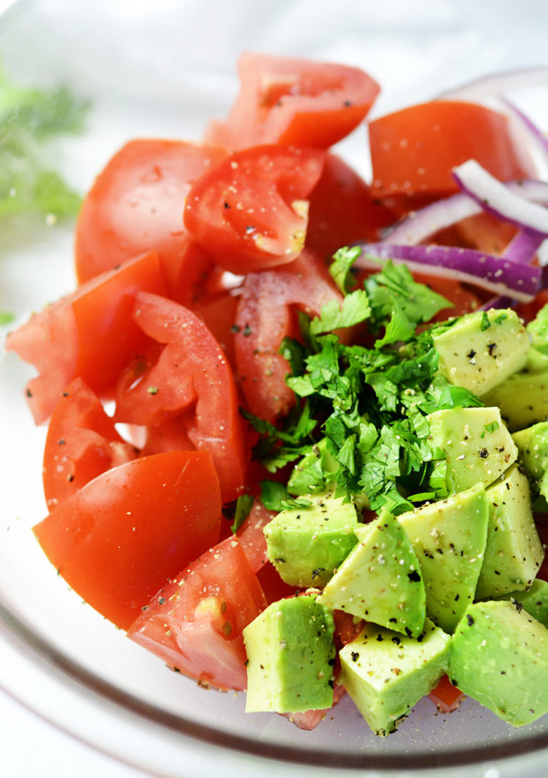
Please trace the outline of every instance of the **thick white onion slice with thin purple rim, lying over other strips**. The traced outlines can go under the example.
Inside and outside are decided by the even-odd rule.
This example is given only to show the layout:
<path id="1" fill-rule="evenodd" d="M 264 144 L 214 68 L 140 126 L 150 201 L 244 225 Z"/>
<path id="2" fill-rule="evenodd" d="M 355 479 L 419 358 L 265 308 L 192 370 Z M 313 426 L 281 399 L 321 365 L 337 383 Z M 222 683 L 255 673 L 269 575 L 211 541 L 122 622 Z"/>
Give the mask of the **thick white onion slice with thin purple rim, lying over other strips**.
<path id="1" fill-rule="evenodd" d="M 543 237 L 548 235 L 548 209 L 505 187 L 475 159 L 454 167 L 452 177 L 465 195 L 473 198 L 485 212 L 522 230 Z"/>

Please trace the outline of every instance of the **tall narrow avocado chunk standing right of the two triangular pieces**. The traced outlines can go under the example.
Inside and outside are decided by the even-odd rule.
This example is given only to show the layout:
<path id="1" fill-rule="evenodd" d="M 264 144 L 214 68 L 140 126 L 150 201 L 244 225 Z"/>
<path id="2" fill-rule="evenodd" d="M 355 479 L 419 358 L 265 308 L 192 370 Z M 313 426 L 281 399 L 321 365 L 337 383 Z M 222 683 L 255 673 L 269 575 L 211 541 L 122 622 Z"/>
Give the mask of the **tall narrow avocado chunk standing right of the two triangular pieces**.
<path id="1" fill-rule="evenodd" d="M 513 464 L 485 493 L 493 510 L 476 587 L 476 598 L 480 600 L 525 589 L 544 558 L 531 510 L 529 482 L 518 465 Z"/>

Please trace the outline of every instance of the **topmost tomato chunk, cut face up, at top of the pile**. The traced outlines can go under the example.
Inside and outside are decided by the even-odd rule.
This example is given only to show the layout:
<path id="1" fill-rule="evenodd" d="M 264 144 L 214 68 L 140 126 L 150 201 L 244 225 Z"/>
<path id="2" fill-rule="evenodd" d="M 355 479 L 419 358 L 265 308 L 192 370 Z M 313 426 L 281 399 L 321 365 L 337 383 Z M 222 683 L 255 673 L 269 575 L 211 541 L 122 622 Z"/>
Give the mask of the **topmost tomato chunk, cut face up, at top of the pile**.
<path id="1" fill-rule="evenodd" d="M 327 149 L 360 124 L 380 91 L 358 68 L 326 62 L 246 52 L 238 69 L 229 117 L 207 132 L 233 150 L 260 143 Z"/>

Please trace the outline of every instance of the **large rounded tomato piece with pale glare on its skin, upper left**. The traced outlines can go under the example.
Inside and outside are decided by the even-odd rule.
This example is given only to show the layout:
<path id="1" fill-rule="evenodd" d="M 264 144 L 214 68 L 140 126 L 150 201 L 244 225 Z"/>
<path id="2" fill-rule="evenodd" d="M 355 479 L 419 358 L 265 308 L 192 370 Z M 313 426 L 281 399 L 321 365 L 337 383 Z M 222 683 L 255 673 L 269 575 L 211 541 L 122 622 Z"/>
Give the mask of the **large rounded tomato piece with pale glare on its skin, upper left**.
<path id="1" fill-rule="evenodd" d="M 194 182 L 224 149 L 173 140 L 134 140 L 99 173 L 76 225 L 76 274 L 85 282 L 144 251 L 157 251 L 170 296 L 190 289 L 211 258 L 183 225 Z M 187 297 L 183 297 L 187 299 Z"/>

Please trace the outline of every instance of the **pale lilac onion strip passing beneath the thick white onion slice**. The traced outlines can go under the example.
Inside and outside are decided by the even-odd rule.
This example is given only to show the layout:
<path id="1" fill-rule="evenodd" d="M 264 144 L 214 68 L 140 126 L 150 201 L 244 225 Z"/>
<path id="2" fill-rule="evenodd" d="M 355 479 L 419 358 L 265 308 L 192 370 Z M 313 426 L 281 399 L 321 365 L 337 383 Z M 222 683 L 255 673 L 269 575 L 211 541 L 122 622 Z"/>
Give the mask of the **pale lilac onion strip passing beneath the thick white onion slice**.
<path id="1" fill-rule="evenodd" d="M 511 181 L 504 186 L 531 202 L 548 203 L 546 181 Z M 413 246 L 437 233 L 438 230 L 450 227 L 468 216 L 475 216 L 482 210 L 481 205 L 468 195 L 460 193 L 452 195 L 445 200 L 437 200 L 430 205 L 424 205 L 424 208 L 410 212 L 389 230 L 382 242 Z"/>

